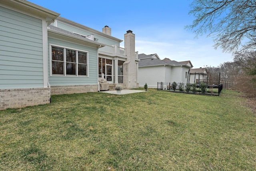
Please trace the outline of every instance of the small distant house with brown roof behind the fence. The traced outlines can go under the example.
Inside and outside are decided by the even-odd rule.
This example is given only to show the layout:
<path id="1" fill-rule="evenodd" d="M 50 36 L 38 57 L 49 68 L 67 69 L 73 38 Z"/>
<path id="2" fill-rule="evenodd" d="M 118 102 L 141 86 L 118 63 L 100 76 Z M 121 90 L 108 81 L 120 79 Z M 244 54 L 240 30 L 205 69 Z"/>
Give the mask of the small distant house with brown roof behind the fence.
<path id="1" fill-rule="evenodd" d="M 194 68 L 190 70 L 189 74 L 189 83 L 197 83 L 199 84 L 199 80 L 202 82 L 207 82 L 208 80 L 208 72 L 206 68 Z"/>

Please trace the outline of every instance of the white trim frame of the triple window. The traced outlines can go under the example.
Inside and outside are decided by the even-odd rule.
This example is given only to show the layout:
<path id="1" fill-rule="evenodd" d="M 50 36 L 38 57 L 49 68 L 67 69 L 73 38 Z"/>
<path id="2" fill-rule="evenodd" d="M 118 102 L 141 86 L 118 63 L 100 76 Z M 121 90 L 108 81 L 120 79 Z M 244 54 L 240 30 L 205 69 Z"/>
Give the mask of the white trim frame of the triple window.
<path id="1" fill-rule="evenodd" d="M 64 48 L 64 75 L 58 75 L 58 74 L 52 74 L 52 46 L 54 47 L 57 47 L 57 48 Z M 69 50 L 75 50 L 76 51 L 76 75 L 66 75 L 66 49 L 69 49 Z M 85 52 L 87 53 L 86 55 L 86 76 L 82 76 L 82 75 L 78 75 L 78 51 L 79 52 Z M 76 49 L 76 48 L 70 48 L 70 47 L 67 47 L 67 46 L 61 46 L 61 45 L 57 45 L 57 44 L 49 44 L 49 57 L 50 57 L 50 76 L 53 76 L 53 77 L 89 77 L 89 52 L 88 51 L 85 51 L 85 50 L 80 50 L 80 49 Z"/>

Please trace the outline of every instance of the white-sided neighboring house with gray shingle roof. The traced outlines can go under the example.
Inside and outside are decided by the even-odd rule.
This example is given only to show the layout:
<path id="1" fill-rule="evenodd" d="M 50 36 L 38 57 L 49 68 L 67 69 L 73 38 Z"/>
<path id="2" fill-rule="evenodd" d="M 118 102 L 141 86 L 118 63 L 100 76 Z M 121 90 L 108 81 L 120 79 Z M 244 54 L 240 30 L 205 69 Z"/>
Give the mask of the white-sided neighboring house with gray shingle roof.
<path id="1" fill-rule="evenodd" d="M 158 82 L 187 83 L 188 72 L 192 68 L 190 61 L 177 62 L 165 58 L 160 60 L 157 54 L 139 54 L 138 82 L 143 87 L 147 83 L 150 88 L 157 88 Z"/>

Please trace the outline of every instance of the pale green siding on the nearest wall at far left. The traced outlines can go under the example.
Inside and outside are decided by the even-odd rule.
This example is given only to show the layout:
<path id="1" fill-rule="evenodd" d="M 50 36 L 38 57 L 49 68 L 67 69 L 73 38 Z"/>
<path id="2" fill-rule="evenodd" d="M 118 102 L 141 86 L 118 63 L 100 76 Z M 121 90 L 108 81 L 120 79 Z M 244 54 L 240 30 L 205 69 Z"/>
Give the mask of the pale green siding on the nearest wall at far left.
<path id="1" fill-rule="evenodd" d="M 0 89 L 43 87 L 42 20 L 0 7 Z"/>

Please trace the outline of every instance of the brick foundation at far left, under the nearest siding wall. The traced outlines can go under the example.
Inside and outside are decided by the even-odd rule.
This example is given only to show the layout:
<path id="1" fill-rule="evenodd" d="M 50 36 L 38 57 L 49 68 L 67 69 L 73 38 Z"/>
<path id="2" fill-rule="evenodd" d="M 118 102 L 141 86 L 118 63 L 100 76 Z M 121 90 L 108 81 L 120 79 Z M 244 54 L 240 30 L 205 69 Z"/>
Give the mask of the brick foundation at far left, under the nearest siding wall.
<path id="1" fill-rule="evenodd" d="M 50 103 L 49 88 L 0 89 L 0 110 Z"/>

